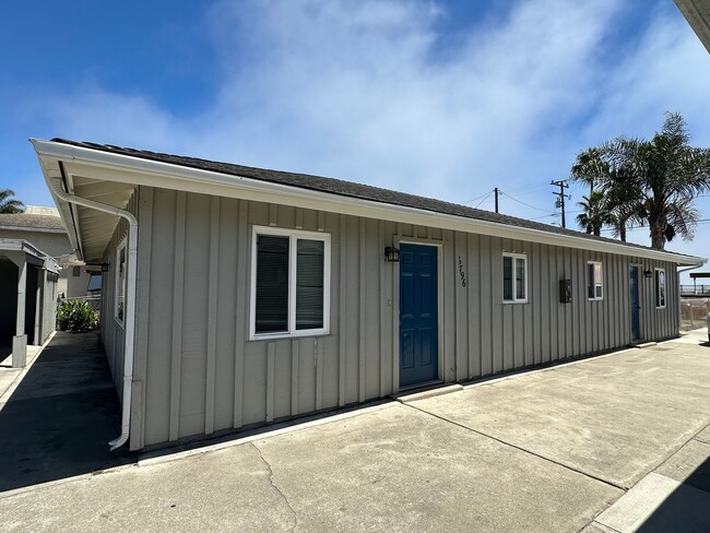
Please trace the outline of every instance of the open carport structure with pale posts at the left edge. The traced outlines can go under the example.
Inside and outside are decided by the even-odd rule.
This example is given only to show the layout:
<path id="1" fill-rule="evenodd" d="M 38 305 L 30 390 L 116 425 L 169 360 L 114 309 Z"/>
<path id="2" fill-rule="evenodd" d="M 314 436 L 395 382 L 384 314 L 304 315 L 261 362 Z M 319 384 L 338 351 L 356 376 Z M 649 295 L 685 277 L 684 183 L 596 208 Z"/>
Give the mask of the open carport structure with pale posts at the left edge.
<path id="1" fill-rule="evenodd" d="M 0 346 L 12 346 L 13 368 L 55 330 L 58 277 L 57 261 L 31 242 L 0 239 Z"/>

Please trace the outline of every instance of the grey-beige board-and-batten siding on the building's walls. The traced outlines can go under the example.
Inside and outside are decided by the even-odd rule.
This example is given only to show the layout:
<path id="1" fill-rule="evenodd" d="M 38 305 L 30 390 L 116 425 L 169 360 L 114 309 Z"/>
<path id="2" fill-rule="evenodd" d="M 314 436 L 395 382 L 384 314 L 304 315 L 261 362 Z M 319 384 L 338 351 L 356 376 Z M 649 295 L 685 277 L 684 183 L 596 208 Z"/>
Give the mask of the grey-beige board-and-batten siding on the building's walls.
<path id="1" fill-rule="evenodd" d="M 446 381 L 631 340 L 632 258 L 166 189 L 141 187 L 138 199 L 131 449 L 397 392 L 399 265 L 384 262 L 383 250 L 401 241 L 441 250 L 439 357 Z M 331 236 L 330 334 L 249 340 L 253 226 Z M 118 242 L 117 236 L 111 247 Z M 502 303 L 502 252 L 528 256 L 526 304 Z M 604 264 L 600 301 L 587 298 L 592 260 Z M 677 334 L 675 266 L 638 262 L 665 268 L 667 277 L 663 310 L 655 309 L 652 280 L 639 277 L 642 336 Z M 563 279 L 572 281 L 571 304 L 558 303 Z M 111 334 L 116 345 L 118 333 Z M 113 366 L 115 372 L 122 368 Z"/>

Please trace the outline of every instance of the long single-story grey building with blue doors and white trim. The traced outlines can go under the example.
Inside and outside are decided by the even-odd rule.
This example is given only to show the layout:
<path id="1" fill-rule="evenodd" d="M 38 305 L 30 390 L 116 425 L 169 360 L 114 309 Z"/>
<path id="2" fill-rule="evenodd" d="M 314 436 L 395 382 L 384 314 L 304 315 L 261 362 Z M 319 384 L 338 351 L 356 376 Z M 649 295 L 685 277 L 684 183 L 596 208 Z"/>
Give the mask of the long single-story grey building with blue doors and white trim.
<path id="1" fill-rule="evenodd" d="M 705 259 L 339 179 L 32 141 L 130 449 L 678 334 Z M 110 289 L 108 287 L 111 287 Z"/>

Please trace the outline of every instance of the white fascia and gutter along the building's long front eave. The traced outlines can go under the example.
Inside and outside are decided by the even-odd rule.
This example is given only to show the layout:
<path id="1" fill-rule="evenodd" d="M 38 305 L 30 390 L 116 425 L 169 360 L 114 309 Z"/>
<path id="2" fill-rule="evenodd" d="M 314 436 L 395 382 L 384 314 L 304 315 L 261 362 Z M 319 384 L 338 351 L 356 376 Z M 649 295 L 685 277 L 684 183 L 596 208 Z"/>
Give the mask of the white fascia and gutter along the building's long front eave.
<path id="1" fill-rule="evenodd" d="M 83 146 L 38 140 L 33 140 L 33 144 L 40 158 L 60 158 L 68 174 L 104 179 L 106 181 L 239 198 L 566 248 L 655 259 L 672 262 L 677 265 L 701 266 L 707 262 L 707 259 L 703 258 L 681 256 L 661 250 L 652 250 L 650 248 L 636 248 L 620 242 L 601 242 L 583 237 L 560 235 L 541 229 L 511 226 L 416 208 L 344 197 L 330 192 L 301 189 L 242 176 L 221 174 L 214 170 L 203 170 L 122 154 L 113 154 Z"/>

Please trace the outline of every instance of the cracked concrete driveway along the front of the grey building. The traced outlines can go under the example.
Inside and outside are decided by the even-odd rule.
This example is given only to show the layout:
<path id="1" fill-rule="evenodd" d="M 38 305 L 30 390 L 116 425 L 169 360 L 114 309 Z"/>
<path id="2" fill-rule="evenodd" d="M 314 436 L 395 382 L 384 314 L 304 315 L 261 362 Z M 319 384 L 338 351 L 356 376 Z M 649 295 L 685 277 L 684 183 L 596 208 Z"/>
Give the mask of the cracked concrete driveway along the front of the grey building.
<path id="1" fill-rule="evenodd" d="M 3 531 L 710 531 L 705 339 L 0 493 Z"/>

